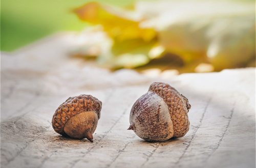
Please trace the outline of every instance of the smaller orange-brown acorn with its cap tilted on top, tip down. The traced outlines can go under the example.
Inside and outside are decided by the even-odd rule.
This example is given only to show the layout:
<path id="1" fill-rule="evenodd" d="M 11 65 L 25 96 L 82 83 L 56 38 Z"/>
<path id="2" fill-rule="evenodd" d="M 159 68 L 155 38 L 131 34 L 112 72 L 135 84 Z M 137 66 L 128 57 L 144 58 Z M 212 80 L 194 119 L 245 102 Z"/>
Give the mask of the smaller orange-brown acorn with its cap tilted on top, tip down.
<path id="1" fill-rule="evenodd" d="M 76 139 L 87 138 L 93 143 L 93 133 L 100 118 L 101 101 L 91 95 L 68 98 L 55 111 L 52 127 L 55 132 Z"/>

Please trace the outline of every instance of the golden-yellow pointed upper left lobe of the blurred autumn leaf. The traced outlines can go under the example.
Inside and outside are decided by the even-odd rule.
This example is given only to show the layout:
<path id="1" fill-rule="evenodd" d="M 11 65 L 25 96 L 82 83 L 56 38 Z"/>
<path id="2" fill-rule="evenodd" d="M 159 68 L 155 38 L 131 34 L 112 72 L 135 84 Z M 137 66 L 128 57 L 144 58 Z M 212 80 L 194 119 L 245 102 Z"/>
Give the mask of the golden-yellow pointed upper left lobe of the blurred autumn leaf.
<path id="1" fill-rule="evenodd" d="M 118 41 L 135 38 L 150 41 L 156 36 L 153 28 L 143 28 L 139 25 L 142 18 L 133 12 L 118 10 L 96 2 L 81 6 L 74 12 L 83 21 L 101 24 L 104 31 Z"/>

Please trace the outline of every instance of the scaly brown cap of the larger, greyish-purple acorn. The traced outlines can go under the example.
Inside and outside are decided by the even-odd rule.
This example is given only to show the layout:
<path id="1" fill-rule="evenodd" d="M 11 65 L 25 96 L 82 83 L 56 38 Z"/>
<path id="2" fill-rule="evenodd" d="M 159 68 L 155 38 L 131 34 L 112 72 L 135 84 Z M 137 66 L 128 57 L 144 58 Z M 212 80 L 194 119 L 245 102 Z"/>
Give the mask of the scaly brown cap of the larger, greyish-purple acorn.
<path id="1" fill-rule="evenodd" d="M 187 98 L 164 82 L 152 83 L 148 91 L 155 92 L 167 104 L 173 122 L 174 137 L 184 136 L 189 129 L 187 113 L 191 107 Z"/>

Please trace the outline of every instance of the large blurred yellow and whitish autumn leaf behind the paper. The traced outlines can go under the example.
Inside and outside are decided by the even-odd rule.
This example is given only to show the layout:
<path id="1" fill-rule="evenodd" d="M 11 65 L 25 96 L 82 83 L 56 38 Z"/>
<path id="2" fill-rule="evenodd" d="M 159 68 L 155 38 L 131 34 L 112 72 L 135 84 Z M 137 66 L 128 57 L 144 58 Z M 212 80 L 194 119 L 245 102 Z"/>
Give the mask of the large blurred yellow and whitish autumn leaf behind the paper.
<path id="1" fill-rule="evenodd" d="M 222 70 L 255 62 L 253 2 L 143 1 L 132 9 L 93 2 L 74 12 L 83 21 L 100 24 L 108 34 L 112 46 L 98 54 L 98 62 L 114 69 L 135 68 L 159 58 L 168 65 L 172 59 L 166 55 L 178 55 L 194 71 L 202 70 L 200 64 Z M 152 56 L 155 48 L 161 52 Z"/>

